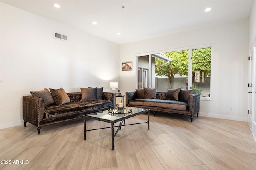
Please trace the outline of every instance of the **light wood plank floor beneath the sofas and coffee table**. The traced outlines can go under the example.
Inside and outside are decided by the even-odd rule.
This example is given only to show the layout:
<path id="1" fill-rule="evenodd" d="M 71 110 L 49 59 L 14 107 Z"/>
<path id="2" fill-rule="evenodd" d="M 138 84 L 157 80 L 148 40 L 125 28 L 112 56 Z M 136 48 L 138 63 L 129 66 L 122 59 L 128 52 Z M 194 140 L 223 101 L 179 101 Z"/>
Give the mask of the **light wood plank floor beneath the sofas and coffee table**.
<path id="1" fill-rule="evenodd" d="M 126 124 L 147 120 L 147 114 Z M 109 123 L 87 121 L 88 129 Z M 1 170 L 255 170 L 256 143 L 246 122 L 159 113 L 124 126 L 111 150 L 111 129 L 88 131 L 76 119 L 41 128 L 0 130 Z M 2 164 L 10 160 L 11 164 Z M 22 164 L 14 164 L 20 160 Z M 26 162 L 28 161 L 28 162 Z M 28 163 L 28 164 L 26 164 Z"/>

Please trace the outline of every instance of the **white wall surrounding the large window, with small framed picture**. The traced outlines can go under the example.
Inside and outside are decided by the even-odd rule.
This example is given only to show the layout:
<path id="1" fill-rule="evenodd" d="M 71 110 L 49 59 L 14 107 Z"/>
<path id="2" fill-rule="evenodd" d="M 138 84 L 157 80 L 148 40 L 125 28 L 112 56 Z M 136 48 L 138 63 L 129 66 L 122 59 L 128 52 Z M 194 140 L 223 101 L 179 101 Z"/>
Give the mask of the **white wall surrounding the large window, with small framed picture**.
<path id="1" fill-rule="evenodd" d="M 212 43 L 212 101 L 200 101 L 199 116 L 246 121 L 248 35 L 249 20 L 240 20 L 122 44 L 120 62 L 133 61 L 134 69 L 129 72 L 120 71 L 121 92 L 135 90 L 135 54 L 162 50 L 167 52 Z"/>

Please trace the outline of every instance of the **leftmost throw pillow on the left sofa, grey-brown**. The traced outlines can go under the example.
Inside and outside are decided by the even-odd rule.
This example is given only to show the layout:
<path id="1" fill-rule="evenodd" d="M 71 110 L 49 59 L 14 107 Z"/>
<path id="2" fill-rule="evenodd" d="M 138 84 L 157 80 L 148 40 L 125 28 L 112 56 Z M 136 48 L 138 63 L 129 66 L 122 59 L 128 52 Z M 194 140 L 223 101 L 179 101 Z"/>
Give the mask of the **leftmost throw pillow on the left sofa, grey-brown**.
<path id="1" fill-rule="evenodd" d="M 42 98 L 44 100 L 44 107 L 49 107 L 54 105 L 54 100 L 52 98 L 52 95 L 50 94 L 47 88 L 44 88 L 44 90 L 40 90 L 40 91 L 31 91 L 30 94 L 34 97 Z"/>

